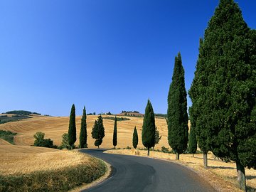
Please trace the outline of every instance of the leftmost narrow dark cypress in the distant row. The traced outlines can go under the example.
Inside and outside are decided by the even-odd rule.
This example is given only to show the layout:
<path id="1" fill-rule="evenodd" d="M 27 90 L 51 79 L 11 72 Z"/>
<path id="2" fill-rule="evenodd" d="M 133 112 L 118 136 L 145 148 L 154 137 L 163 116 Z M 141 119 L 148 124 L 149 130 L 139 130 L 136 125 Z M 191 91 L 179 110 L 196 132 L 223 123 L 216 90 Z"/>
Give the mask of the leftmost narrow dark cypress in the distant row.
<path id="1" fill-rule="evenodd" d="M 68 144 L 73 149 L 76 141 L 76 127 L 75 127 L 75 105 L 73 104 L 70 112 L 70 122 L 68 127 Z"/>

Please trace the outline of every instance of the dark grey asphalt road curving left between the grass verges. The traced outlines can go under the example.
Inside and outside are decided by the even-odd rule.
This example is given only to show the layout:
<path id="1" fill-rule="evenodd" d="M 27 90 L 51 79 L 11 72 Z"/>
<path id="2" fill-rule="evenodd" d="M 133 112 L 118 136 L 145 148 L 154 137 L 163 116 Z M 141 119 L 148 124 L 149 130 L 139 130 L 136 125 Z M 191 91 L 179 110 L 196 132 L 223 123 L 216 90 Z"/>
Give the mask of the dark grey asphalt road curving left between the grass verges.
<path id="1" fill-rule="evenodd" d="M 158 159 L 141 156 L 104 154 L 100 150 L 81 150 L 112 165 L 112 176 L 85 191 L 151 192 L 151 191 L 215 191 L 190 169 Z"/>

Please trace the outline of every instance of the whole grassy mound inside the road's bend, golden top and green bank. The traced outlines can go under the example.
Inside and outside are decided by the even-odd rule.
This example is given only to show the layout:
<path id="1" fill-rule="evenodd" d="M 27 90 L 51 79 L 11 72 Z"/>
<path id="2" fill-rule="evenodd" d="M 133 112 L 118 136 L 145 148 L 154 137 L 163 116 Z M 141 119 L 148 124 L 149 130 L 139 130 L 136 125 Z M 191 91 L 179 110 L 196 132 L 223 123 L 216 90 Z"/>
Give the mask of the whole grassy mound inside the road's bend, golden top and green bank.
<path id="1" fill-rule="evenodd" d="M 78 151 L 12 145 L 1 149 L 4 147 L 0 150 L 0 191 L 69 191 L 107 171 L 103 161 Z M 27 148 L 31 148 L 28 153 Z"/>

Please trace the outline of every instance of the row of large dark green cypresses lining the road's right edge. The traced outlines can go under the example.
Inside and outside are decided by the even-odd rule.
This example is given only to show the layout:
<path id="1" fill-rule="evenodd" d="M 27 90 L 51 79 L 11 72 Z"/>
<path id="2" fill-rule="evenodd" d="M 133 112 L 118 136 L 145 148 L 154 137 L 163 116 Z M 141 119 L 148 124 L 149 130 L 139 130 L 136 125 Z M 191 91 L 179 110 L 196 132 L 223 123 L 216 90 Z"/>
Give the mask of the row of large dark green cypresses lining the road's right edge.
<path id="1" fill-rule="evenodd" d="M 256 169 L 256 31 L 242 18 L 238 4 L 220 0 L 200 39 L 199 55 L 189 95 L 189 149 L 212 151 L 223 161 L 235 161 L 240 188 L 246 191 L 245 167 Z M 146 106 L 142 142 L 153 146 L 154 112 Z M 168 95 L 168 140 L 179 154 L 187 148 L 188 114 L 181 54 L 175 58 Z"/>

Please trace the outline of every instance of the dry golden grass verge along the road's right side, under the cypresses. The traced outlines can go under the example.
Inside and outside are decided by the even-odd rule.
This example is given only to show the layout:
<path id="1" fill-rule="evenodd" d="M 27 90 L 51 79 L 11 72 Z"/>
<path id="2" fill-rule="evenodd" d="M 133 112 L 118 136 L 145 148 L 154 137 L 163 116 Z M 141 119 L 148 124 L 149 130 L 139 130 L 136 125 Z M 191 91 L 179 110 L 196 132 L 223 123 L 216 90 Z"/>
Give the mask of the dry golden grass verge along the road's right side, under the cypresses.
<path id="1" fill-rule="evenodd" d="M 115 149 L 105 151 L 105 153 L 147 156 L 147 151 L 139 149 Z M 215 159 L 213 154 L 208 154 L 208 169 L 203 168 L 203 154 L 195 154 L 194 157 L 192 154 L 181 154 L 180 161 L 176 161 L 175 154 L 167 154 L 160 151 L 150 151 L 149 157 L 173 161 L 175 163 L 182 164 L 183 166 L 187 166 L 188 169 L 195 171 L 218 191 L 241 191 L 238 188 L 235 163 L 225 163 Z M 245 169 L 245 174 L 247 178 L 247 192 L 256 191 L 256 170 Z"/>

